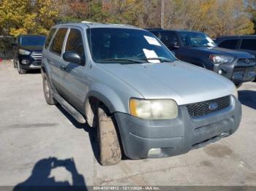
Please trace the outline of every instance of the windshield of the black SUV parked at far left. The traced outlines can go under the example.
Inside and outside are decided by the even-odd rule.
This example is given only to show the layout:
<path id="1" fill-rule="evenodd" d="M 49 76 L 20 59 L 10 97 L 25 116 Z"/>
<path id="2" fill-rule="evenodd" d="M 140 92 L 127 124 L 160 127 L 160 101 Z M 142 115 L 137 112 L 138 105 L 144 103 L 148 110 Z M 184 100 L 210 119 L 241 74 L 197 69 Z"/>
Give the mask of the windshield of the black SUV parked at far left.
<path id="1" fill-rule="evenodd" d="M 20 45 L 23 47 L 42 47 L 46 36 L 21 36 Z"/>

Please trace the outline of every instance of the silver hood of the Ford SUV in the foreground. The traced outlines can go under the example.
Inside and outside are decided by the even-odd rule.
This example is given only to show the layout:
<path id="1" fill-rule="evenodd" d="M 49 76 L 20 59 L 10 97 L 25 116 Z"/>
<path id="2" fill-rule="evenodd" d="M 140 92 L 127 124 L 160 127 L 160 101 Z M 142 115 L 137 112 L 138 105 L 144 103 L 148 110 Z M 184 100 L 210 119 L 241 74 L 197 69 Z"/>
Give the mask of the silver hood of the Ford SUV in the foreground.
<path id="1" fill-rule="evenodd" d="M 229 79 L 181 61 L 99 66 L 134 87 L 144 98 L 173 99 L 178 105 L 231 95 L 235 89 Z"/>

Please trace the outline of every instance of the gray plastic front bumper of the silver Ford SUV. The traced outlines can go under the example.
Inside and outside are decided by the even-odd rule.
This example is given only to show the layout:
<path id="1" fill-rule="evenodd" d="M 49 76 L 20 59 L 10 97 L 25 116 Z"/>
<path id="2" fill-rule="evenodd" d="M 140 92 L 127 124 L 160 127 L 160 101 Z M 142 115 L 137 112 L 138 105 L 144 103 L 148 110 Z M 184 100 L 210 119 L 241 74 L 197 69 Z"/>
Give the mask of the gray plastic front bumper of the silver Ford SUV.
<path id="1" fill-rule="evenodd" d="M 232 97 L 232 104 L 226 109 L 197 118 L 189 116 L 187 106 L 179 106 L 175 120 L 142 120 L 120 112 L 115 117 L 127 157 L 168 157 L 234 133 L 241 121 L 241 104 Z M 159 152 L 148 154 L 151 149 Z"/>

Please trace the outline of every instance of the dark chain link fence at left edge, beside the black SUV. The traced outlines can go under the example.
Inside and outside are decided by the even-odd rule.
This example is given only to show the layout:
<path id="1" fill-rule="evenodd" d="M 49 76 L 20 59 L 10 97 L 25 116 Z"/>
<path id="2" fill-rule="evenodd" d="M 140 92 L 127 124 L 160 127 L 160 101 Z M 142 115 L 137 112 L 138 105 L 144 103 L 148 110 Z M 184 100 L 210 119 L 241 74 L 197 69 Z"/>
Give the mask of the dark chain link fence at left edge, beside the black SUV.
<path id="1" fill-rule="evenodd" d="M 12 43 L 15 42 L 15 38 L 12 36 L 0 36 L 0 58 L 12 59 L 13 50 Z"/>

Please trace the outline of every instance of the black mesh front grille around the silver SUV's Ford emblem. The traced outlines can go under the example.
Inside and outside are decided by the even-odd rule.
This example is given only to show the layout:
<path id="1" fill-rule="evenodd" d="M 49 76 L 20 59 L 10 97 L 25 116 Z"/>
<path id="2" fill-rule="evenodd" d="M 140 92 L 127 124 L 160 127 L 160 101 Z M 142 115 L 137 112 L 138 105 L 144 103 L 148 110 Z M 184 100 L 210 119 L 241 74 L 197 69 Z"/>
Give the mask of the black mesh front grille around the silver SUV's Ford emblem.
<path id="1" fill-rule="evenodd" d="M 211 108 L 212 105 L 217 106 L 216 109 Z M 203 101 L 195 104 L 187 105 L 190 117 L 201 117 L 206 114 L 220 111 L 230 106 L 230 95 L 222 98 Z M 211 108 L 211 109 L 210 109 Z"/>

